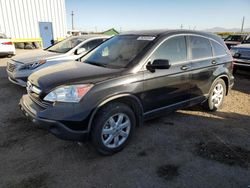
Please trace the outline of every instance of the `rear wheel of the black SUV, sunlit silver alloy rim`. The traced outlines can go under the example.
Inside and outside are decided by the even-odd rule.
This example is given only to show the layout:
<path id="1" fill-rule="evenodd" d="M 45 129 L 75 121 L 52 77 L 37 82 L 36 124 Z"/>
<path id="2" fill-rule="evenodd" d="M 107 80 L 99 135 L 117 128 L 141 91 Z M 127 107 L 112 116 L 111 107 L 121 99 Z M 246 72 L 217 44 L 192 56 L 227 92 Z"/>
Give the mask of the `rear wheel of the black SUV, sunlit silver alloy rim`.
<path id="1" fill-rule="evenodd" d="M 216 93 L 217 92 L 217 93 Z M 210 88 L 208 99 L 203 103 L 203 107 L 209 111 L 216 111 L 221 108 L 226 95 L 226 84 L 219 78 Z"/>

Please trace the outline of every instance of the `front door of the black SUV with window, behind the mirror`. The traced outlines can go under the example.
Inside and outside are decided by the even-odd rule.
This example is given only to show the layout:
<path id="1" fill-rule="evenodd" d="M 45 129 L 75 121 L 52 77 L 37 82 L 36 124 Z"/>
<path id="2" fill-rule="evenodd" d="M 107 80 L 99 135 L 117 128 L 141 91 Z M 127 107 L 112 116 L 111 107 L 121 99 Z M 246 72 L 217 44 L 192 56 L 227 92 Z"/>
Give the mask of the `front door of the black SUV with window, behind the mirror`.
<path id="1" fill-rule="evenodd" d="M 169 69 L 145 70 L 143 106 L 146 112 L 164 110 L 190 99 L 190 63 L 187 61 L 185 36 L 174 36 L 163 42 L 150 57 L 167 59 Z"/>

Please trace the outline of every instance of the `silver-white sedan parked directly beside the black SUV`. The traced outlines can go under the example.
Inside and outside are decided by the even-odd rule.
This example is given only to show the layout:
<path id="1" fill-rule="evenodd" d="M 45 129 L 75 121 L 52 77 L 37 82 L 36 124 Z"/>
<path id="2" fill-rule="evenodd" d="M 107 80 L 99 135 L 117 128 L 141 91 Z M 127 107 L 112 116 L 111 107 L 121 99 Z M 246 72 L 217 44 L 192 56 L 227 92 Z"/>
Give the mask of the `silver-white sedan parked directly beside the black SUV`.
<path id="1" fill-rule="evenodd" d="M 108 38 L 104 35 L 69 37 L 45 50 L 17 55 L 7 63 L 8 78 L 12 83 L 25 87 L 31 73 L 65 61 L 77 60 Z"/>

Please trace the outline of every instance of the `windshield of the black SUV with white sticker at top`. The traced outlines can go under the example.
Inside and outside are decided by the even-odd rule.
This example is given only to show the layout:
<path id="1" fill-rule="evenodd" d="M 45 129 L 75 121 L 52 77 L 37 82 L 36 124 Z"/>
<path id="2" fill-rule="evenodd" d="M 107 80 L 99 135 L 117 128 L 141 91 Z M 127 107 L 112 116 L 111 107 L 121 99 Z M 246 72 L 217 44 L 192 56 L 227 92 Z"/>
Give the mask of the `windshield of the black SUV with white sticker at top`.
<path id="1" fill-rule="evenodd" d="M 103 67 L 126 67 L 155 37 L 120 35 L 111 38 L 87 55 L 83 61 Z"/>

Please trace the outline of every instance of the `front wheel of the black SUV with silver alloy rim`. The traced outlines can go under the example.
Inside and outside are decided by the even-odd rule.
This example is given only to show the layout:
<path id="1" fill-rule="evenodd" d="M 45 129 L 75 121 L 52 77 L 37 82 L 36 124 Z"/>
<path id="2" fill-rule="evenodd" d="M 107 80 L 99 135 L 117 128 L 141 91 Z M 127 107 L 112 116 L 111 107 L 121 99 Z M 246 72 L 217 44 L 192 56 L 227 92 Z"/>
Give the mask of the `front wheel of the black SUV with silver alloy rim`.
<path id="1" fill-rule="evenodd" d="M 107 104 L 94 118 L 91 142 L 101 154 L 112 155 L 128 144 L 135 125 L 135 114 L 130 107 L 118 102 Z"/>

